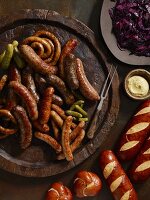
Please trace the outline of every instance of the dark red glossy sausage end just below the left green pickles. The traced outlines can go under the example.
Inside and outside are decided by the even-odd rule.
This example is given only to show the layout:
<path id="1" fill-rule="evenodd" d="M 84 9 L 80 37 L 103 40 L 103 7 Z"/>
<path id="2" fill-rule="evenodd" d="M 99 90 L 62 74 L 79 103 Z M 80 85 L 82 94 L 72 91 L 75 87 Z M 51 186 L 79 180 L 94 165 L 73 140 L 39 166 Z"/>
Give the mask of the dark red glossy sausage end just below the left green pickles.
<path id="1" fill-rule="evenodd" d="M 14 64 L 12 64 L 9 67 L 8 79 L 9 81 L 18 81 L 19 83 L 21 83 L 20 71 L 17 69 L 17 67 Z"/>

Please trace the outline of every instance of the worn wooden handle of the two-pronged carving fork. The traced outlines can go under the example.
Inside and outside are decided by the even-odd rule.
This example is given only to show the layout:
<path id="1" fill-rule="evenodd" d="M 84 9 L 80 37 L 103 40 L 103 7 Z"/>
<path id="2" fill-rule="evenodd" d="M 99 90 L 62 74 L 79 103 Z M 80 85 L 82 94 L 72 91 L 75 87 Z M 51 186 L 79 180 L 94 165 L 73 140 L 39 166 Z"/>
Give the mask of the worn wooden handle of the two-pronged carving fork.
<path id="1" fill-rule="evenodd" d="M 90 128 L 87 132 L 87 137 L 89 139 L 92 139 L 94 137 L 96 127 L 97 127 L 98 117 L 99 117 L 99 111 L 97 110 L 95 115 L 94 115 L 94 118 L 91 121 Z"/>

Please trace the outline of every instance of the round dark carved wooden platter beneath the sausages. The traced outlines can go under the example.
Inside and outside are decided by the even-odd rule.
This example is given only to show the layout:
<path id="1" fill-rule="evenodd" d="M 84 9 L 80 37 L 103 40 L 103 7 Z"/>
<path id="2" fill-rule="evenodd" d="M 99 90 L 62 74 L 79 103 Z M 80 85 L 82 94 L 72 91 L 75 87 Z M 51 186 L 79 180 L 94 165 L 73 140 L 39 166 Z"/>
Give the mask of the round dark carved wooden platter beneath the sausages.
<path id="1" fill-rule="evenodd" d="M 21 41 L 35 31 L 46 29 L 53 32 L 61 44 L 69 38 L 77 38 L 74 54 L 81 58 L 89 81 L 100 93 L 110 64 L 98 48 L 94 33 L 83 23 L 48 10 L 21 10 L 0 19 L 0 50 L 14 39 Z M 117 73 L 99 117 L 99 125 L 92 140 L 85 138 L 74 153 L 74 160 L 56 161 L 53 150 L 44 142 L 33 139 L 32 145 L 22 151 L 18 136 L 0 140 L 0 168 L 26 177 L 46 177 L 67 171 L 91 156 L 104 142 L 113 126 L 119 110 L 119 79 Z M 89 119 L 94 117 L 97 102 L 86 103 Z M 86 132 L 90 122 L 87 124 Z M 19 134 L 18 134 L 19 135 Z"/>

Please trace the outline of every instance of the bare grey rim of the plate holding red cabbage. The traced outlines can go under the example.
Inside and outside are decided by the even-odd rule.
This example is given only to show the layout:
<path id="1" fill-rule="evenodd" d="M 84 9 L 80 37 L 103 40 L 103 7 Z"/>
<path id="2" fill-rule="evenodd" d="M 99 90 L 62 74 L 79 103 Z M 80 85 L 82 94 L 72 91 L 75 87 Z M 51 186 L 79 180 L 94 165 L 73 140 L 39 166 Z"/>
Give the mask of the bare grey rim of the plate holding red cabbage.
<path id="1" fill-rule="evenodd" d="M 112 33 L 112 20 L 109 15 L 109 9 L 113 8 L 116 1 L 105 0 L 103 1 L 101 15 L 100 15 L 100 27 L 104 41 L 111 51 L 111 53 L 120 61 L 129 65 L 150 65 L 150 57 L 136 56 L 130 54 L 128 50 L 121 50 L 117 45 L 115 35 Z"/>

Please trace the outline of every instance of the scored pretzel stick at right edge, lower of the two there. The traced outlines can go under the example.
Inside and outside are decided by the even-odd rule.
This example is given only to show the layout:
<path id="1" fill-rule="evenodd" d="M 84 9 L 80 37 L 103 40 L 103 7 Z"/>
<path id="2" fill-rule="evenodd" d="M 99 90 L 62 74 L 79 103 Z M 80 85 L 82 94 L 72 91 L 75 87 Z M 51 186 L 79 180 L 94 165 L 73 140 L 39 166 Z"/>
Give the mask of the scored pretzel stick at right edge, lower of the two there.
<path id="1" fill-rule="evenodd" d="M 131 165 L 129 176 L 134 182 L 145 181 L 150 177 L 150 137 Z"/>

